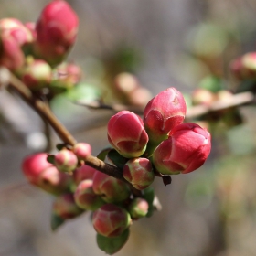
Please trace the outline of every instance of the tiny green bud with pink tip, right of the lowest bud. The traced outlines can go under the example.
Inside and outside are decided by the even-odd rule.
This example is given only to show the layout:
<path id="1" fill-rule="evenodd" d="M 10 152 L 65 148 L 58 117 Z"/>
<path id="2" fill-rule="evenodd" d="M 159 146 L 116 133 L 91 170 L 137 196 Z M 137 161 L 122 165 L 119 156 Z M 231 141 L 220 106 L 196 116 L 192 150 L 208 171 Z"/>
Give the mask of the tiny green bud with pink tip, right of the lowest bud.
<path id="1" fill-rule="evenodd" d="M 129 205 L 129 213 L 133 219 L 145 217 L 148 212 L 148 202 L 144 198 L 136 197 Z"/>

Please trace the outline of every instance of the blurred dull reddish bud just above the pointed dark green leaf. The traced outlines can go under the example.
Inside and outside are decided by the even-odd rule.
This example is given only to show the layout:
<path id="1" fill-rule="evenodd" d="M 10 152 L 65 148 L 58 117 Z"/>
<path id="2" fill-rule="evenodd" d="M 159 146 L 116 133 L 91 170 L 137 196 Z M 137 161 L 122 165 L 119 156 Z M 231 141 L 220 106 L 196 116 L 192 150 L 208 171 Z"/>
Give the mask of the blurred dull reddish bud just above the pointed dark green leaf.
<path id="1" fill-rule="evenodd" d="M 57 197 L 52 207 L 53 213 L 61 219 L 72 219 L 79 216 L 83 210 L 74 200 L 73 194 L 63 194 Z"/>

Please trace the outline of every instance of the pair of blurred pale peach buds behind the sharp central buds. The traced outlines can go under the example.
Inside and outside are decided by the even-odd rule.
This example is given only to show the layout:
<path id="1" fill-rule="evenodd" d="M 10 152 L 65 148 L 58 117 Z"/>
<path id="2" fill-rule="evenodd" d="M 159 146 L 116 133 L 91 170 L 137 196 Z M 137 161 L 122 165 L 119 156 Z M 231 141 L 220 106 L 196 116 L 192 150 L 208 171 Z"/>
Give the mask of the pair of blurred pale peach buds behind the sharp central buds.
<path id="1" fill-rule="evenodd" d="M 134 106 L 145 106 L 151 100 L 151 92 L 144 88 L 139 80 L 130 73 L 120 73 L 114 79 L 114 86 L 123 103 Z"/>

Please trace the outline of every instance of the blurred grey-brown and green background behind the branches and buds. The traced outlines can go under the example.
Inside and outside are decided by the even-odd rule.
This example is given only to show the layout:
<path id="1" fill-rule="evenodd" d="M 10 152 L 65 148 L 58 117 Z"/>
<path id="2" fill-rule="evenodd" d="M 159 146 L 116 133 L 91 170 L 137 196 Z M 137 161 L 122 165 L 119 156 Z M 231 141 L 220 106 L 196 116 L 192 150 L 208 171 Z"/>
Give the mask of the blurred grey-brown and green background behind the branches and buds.
<path id="1" fill-rule="evenodd" d="M 0 0 L 0 18 L 36 21 L 48 2 Z M 69 60 L 80 65 L 90 85 L 84 93 L 111 104 L 120 101 L 115 78 L 121 72 L 133 74 L 146 89 L 140 100 L 176 87 L 189 107 L 197 87 L 236 91 L 229 63 L 256 48 L 254 0 L 68 2 L 80 18 Z M 52 198 L 28 185 L 20 167 L 26 155 L 46 147 L 44 125 L 16 96 L 0 91 L 0 98 L 0 255 L 104 255 L 89 214 L 51 232 Z M 134 99 L 135 105 L 146 103 Z M 92 145 L 93 155 L 108 146 L 105 125 L 113 112 L 89 110 L 65 95 L 51 106 L 78 141 Z M 173 176 L 167 187 L 155 180 L 163 209 L 135 221 L 116 255 L 256 255 L 254 107 L 241 107 L 224 123 L 208 119 L 213 148 L 207 163 L 192 174 Z M 59 143 L 52 136 L 53 144 Z"/>

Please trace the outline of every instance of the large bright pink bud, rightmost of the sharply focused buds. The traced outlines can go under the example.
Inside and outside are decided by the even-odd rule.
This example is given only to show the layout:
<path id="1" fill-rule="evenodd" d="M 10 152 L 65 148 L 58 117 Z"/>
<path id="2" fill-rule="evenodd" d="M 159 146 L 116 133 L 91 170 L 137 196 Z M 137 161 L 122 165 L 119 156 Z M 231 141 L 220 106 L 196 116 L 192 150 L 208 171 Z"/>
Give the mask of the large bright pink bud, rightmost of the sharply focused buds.
<path id="1" fill-rule="evenodd" d="M 203 165 L 210 153 L 210 134 L 196 123 L 177 125 L 153 153 L 153 163 L 165 175 L 187 174 Z"/>

